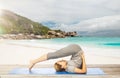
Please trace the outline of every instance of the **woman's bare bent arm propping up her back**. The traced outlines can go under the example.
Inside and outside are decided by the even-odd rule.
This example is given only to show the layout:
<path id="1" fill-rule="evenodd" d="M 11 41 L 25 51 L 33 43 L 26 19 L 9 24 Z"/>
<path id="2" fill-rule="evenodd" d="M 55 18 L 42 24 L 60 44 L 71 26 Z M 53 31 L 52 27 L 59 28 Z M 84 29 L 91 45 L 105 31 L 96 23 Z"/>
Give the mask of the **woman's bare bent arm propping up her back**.
<path id="1" fill-rule="evenodd" d="M 82 56 L 82 69 L 80 69 L 80 68 L 75 68 L 74 69 L 74 72 L 75 73 L 83 73 L 83 74 L 85 74 L 86 72 L 87 72 L 87 67 L 86 67 L 86 63 L 85 63 L 85 57 L 84 57 L 84 54 L 82 54 L 81 55 Z"/>

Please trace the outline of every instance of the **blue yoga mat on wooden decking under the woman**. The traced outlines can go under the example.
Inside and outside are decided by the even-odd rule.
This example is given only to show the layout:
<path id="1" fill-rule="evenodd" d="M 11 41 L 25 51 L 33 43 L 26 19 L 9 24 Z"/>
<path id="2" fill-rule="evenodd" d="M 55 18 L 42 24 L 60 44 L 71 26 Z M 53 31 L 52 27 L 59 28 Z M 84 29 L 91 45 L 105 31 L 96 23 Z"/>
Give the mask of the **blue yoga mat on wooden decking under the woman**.
<path id="1" fill-rule="evenodd" d="M 15 68 L 9 74 L 28 74 L 28 75 L 57 75 L 57 74 L 75 74 L 69 72 L 56 72 L 54 68 L 33 68 L 31 72 L 28 68 Z M 85 75 L 104 75 L 105 73 L 100 68 L 87 68 Z M 77 75 L 77 74 L 75 74 Z"/>

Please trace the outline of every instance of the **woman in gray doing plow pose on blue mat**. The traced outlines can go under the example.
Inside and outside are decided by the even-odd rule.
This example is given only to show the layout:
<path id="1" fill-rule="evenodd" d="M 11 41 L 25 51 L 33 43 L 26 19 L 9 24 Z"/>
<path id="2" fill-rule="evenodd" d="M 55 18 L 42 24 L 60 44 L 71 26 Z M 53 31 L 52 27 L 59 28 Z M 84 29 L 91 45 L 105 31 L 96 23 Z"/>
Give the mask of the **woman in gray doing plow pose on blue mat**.
<path id="1" fill-rule="evenodd" d="M 42 61 L 49 60 L 49 59 L 70 56 L 70 55 L 72 56 L 69 61 L 66 61 L 66 60 L 57 61 L 54 64 L 55 70 L 56 71 L 67 71 L 71 73 L 86 73 L 87 68 L 86 68 L 86 63 L 85 63 L 85 57 L 84 57 L 82 49 L 77 44 L 68 45 L 60 50 L 47 53 L 41 56 L 40 58 L 31 61 L 29 70 L 31 71 L 32 67 L 38 62 L 42 62 Z"/>

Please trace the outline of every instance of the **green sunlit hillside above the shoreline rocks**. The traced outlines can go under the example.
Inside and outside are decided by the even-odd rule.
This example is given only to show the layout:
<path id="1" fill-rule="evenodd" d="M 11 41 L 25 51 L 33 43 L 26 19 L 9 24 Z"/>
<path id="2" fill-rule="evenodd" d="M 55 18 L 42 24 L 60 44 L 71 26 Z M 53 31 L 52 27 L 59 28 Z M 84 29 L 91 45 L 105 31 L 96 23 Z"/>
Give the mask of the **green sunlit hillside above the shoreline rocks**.
<path id="1" fill-rule="evenodd" d="M 35 34 L 45 35 L 50 29 L 38 22 L 20 16 L 8 10 L 0 14 L 0 34 Z"/>

